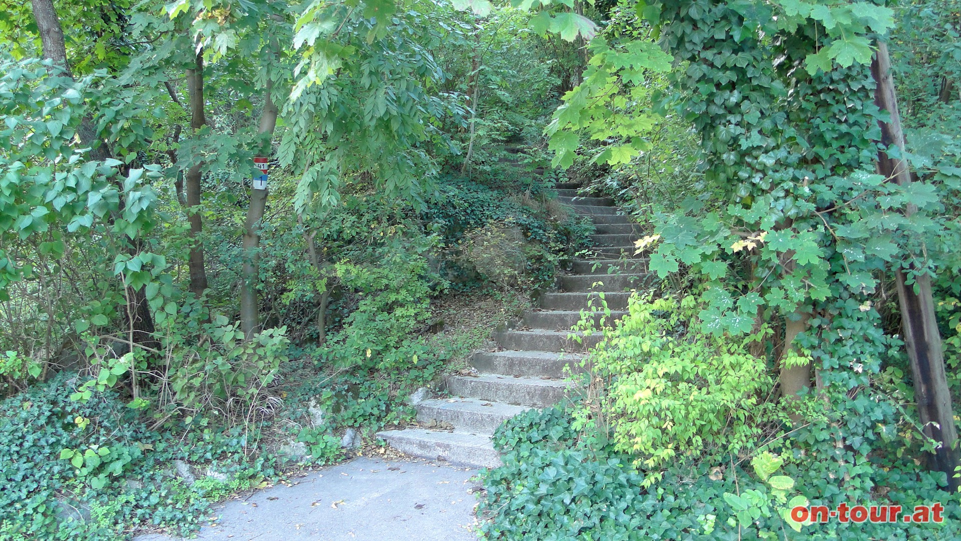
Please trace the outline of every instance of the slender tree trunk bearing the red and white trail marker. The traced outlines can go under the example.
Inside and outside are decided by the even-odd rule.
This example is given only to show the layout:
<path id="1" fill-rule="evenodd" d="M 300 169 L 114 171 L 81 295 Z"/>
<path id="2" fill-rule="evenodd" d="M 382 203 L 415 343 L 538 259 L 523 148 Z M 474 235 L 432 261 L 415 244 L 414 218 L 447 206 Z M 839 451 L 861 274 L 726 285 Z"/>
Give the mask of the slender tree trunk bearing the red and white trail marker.
<path id="1" fill-rule="evenodd" d="M 258 156 L 269 158 L 271 154 L 270 135 L 277 127 L 277 106 L 270 95 L 272 90 L 270 78 L 267 78 L 267 88 L 264 92 L 263 112 L 260 114 L 258 133 L 267 141 L 260 149 Z M 259 302 L 257 286 L 259 280 L 259 247 L 260 233 L 258 230 L 260 219 L 267 206 L 267 190 L 250 192 L 250 207 L 247 208 L 247 219 L 244 220 L 243 253 L 244 263 L 240 284 L 240 326 L 247 340 L 259 332 Z"/>

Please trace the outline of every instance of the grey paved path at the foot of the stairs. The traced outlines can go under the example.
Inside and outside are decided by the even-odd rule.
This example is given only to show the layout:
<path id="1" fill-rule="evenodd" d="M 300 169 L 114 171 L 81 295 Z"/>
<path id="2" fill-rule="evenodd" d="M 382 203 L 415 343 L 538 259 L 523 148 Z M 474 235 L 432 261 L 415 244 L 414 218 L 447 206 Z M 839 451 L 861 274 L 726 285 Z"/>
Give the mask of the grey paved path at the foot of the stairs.
<path id="1" fill-rule="evenodd" d="M 227 502 L 199 539 L 474 541 L 476 470 L 361 457 Z M 335 504 L 335 505 L 334 505 Z M 213 514 L 211 514 L 213 516 Z M 139 535 L 135 541 L 180 541 Z"/>

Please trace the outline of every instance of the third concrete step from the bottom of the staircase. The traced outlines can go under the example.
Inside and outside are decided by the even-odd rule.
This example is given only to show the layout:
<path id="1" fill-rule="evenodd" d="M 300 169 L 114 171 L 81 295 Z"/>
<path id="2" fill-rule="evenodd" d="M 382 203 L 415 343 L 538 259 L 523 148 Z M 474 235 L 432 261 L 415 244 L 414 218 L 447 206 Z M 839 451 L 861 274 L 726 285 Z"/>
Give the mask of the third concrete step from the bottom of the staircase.
<path id="1" fill-rule="evenodd" d="M 447 378 L 447 389 L 452 395 L 533 407 L 549 407 L 562 401 L 568 396 L 570 386 L 562 379 L 502 374 L 453 375 Z"/>

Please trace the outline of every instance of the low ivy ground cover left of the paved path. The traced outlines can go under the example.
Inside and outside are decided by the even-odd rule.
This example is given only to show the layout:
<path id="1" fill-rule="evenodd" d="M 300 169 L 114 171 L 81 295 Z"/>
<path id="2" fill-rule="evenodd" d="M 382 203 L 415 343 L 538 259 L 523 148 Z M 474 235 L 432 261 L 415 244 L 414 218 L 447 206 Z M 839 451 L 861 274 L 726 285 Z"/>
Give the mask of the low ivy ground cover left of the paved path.
<path id="1" fill-rule="evenodd" d="M 134 525 L 196 528 L 210 502 L 273 475 L 242 468 L 244 437 L 206 430 L 182 439 L 151 430 L 107 391 L 69 399 L 60 375 L 0 402 L 0 539 L 126 538 Z M 216 460 L 228 481 L 175 481 L 170 461 Z M 257 471 L 255 471 L 257 470 Z"/>

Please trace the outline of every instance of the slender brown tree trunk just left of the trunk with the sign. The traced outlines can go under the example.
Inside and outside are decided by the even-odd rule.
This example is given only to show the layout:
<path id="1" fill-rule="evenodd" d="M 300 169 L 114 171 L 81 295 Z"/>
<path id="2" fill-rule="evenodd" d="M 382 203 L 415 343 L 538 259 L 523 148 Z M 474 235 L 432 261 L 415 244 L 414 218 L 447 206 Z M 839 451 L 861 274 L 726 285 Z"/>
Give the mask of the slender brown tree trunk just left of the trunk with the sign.
<path id="1" fill-rule="evenodd" d="M 204 52 L 201 50 L 194 59 L 195 67 L 186 70 L 186 88 L 190 99 L 190 129 L 196 134 L 204 127 L 207 117 L 204 115 Z M 187 268 L 190 271 L 190 291 L 195 296 L 204 295 L 207 290 L 207 269 L 204 265 L 204 245 L 200 237 L 204 232 L 204 223 L 200 214 L 201 168 L 203 162 L 190 166 L 185 175 L 185 199 L 187 220 L 190 223 L 190 254 Z"/>

